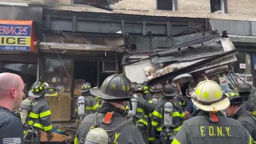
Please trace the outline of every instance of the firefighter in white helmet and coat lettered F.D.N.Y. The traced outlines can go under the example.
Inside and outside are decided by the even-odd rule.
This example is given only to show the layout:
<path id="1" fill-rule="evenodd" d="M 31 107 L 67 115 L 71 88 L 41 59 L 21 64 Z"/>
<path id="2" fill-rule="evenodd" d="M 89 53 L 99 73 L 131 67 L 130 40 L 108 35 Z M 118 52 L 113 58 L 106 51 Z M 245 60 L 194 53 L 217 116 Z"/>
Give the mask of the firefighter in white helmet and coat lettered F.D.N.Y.
<path id="1" fill-rule="evenodd" d="M 225 117 L 220 112 L 230 102 L 222 95 L 218 83 L 208 79 L 200 82 L 191 98 L 201 110 L 182 124 L 172 144 L 253 143 L 249 132 L 237 120 Z"/>

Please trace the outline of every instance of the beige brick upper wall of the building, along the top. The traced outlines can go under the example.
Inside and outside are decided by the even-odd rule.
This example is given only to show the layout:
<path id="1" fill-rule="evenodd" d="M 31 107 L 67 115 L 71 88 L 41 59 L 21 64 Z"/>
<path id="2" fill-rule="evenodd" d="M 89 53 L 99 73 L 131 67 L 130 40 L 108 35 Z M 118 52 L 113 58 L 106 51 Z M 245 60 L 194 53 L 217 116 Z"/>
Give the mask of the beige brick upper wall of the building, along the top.
<path id="1" fill-rule="evenodd" d="M 33 4 L 47 4 L 47 5 L 66 5 L 70 6 L 76 0 L 0 0 L 0 2 L 15 2 L 15 3 L 33 3 Z M 178 11 L 159 11 L 156 10 L 157 0 L 123 0 L 115 4 L 114 13 L 127 13 L 139 15 L 157 15 L 173 17 L 176 15 L 180 17 L 191 17 L 191 14 L 196 14 L 197 18 L 207 18 L 209 15 L 213 17 L 240 17 L 240 18 L 256 18 L 256 1 L 255 0 L 227 0 L 228 14 L 211 13 L 210 0 L 177 0 Z M 77 5 L 73 5 L 77 6 Z M 70 9 L 67 8 L 67 9 Z M 92 11 L 92 12 L 106 12 L 100 9 L 90 8 L 88 6 L 79 6 L 79 11 Z M 110 12 L 112 13 L 112 12 Z M 181 15 L 181 17 L 182 17 Z M 241 20 L 236 18 L 237 20 Z"/>

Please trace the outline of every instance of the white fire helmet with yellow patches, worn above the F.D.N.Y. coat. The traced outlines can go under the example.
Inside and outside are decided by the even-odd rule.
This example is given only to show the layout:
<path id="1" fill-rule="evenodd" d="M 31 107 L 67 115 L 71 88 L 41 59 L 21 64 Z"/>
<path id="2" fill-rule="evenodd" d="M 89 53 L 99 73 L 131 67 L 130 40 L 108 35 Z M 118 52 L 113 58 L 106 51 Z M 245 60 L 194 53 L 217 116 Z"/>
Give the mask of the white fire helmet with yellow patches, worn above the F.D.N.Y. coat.
<path id="1" fill-rule="evenodd" d="M 196 86 L 195 92 L 191 94 L 191 100 L 199 109 L 214 113 L 225 110 L 230 105 L 226 95 L 222 95 L 220 85 L 209 79 Z"/>

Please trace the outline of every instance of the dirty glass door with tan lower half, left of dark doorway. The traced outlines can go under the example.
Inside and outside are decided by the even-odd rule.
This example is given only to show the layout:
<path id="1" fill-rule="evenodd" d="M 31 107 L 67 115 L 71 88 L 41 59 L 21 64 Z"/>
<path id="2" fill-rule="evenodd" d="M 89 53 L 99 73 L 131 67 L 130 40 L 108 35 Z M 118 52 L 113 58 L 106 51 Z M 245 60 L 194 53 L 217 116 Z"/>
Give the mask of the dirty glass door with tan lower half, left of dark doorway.
<path id="1" fill-rule="evenodd" d="M 72 75 L 73 60 L 45 60 L 45 82 L 49 84 L 45 99 L 50 105 L 52 121 L 69 121 L 71 118 Z"/>

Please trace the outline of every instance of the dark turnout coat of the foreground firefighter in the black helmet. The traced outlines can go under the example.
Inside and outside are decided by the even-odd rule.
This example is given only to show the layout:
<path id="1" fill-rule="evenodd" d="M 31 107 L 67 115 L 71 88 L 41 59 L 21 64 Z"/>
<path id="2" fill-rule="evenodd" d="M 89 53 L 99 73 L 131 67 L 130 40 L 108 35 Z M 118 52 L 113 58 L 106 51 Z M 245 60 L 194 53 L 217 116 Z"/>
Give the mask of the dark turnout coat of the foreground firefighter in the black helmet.
<path id="1" fill-rule="evenodd" d="M 109 124 L 102 123 L 103 118 L 107 112 L 114 112 L 111 117 L 111 122 Z M 94 118 L 95 113 L 87 115 L 82 123 L 80 124 L 78 131 L 76 133 L 75 144 L 84 143 L 87 133 L 94 128 Z M 127 121 L 125 118 L 125 111 L 115 108 L 110 103 L 103 103 L 99 115 L 99 127 L 105 131 L 114 130 L 117 126 Z M 143 138 L 140 130 L 134 124 L 128 124 L 124 126 L 121 130 L 116 132 L 110 137 L 111 142 L 115 144 L 143 144 Z"/>

